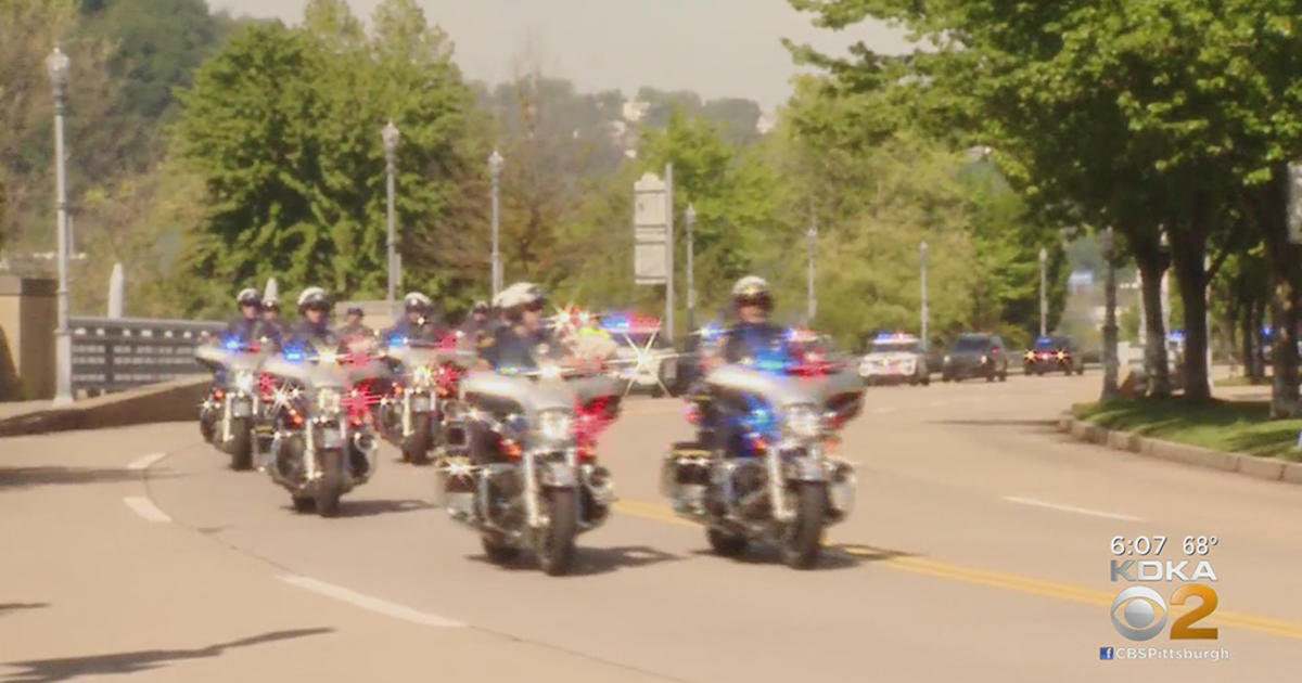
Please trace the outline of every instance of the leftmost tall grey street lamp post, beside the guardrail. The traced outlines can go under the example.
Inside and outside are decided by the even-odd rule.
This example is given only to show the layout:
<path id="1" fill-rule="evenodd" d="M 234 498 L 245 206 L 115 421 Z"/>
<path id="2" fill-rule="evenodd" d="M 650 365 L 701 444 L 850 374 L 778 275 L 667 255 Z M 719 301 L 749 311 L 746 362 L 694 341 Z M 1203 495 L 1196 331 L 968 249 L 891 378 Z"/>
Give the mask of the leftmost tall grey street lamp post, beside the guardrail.
<path id="1" fill-rule="evenodd" d="M 59 47 L 46 59 L 55 87 L 55 191 L 59 230 L 59 328 L 55 330 L 55 405 L 73 402 L 73 342 L 68 325 L 68 177 L 64 169 L 68 55 Z"/>

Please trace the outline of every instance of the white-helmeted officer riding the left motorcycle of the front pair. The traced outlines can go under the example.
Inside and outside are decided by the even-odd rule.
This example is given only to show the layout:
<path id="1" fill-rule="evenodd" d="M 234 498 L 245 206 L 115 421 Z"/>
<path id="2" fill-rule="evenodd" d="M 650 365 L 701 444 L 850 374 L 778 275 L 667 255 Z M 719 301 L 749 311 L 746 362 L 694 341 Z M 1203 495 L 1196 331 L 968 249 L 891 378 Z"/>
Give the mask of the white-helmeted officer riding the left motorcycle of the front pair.
<path id="1" fill-rule="evenodd" d="M 547 299 L 538 285 L 516 282 L 499 297 L 505 324 L 479 350 L 479 358 L 488 367 L 538 369 L 538 360 L 559 360 L 565 355 L 551 330 L 543 327 Z"/>

